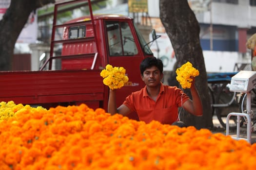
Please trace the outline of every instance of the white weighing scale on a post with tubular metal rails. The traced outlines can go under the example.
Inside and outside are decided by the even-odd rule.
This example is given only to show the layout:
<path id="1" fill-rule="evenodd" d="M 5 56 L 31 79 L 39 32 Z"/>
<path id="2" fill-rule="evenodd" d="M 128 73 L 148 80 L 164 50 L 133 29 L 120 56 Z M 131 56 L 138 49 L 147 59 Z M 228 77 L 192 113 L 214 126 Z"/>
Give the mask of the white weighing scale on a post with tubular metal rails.
<path id="1" fill-rule="evenodd" d="M 229 135 L 229 119 L 231 116 L 237 116 L 237 122 L 236 122 L 236 137 L 235 139 L 245 139 L 240 136 L 240 117 L 246 117 L 248 120 L 247 125 L 247 141 L 251 143 L 251 126 L 252 126 L 252 120 L 251 120 L 251 90 L 256 85 L 256 71 L 239 71 L 236 75 L 234 75 L 231 78 L 230 83 L 230 91 L 234 92 L 242 92 L 246 93 L 246 110 L 247 113 L 229 113 L 227 116 L 227 124 L 226 124 L 226 135 Z"/>

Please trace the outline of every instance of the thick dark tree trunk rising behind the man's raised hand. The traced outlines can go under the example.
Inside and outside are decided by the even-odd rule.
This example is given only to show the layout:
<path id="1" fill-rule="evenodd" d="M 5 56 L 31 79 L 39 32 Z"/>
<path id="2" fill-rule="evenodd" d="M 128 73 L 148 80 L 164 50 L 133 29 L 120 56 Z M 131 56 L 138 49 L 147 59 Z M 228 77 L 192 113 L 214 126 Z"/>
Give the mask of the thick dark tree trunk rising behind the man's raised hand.
<path id="1" fill-rule="evenodd" d="M 212 128 L 212 108 L 197 18 L 187 0 L 159 0 L 159 8 L 161 22 L 176 54 L 177 66 L 180 67 L 189 61 L 200 73 L 196 77 L 196 87 L 203 104 L 203 116 L 196 117 L 185 112 L 184 121 L 197 129 Z M 189 89 L 184 89 L 184 92 L 191 96 Z M 181 114 L 183 112 L 181 111 Z"/>

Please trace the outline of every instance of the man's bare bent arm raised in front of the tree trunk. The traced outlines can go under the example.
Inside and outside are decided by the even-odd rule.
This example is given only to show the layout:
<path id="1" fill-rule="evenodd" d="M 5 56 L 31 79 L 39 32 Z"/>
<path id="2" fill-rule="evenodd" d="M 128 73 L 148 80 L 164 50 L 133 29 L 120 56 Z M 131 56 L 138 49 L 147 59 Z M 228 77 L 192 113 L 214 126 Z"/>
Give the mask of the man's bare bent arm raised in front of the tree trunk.
<path id="1" fill-rule="evenodd" d="M 195 86 L 195 78 L 193 78 L 193 82 L 190 88 L 192 100 L 188 100 L 183 104 L 185 110 L 195 116 L 203 115 L 203 106 L 200 96 L 197 92 L 197 88 Z"/>

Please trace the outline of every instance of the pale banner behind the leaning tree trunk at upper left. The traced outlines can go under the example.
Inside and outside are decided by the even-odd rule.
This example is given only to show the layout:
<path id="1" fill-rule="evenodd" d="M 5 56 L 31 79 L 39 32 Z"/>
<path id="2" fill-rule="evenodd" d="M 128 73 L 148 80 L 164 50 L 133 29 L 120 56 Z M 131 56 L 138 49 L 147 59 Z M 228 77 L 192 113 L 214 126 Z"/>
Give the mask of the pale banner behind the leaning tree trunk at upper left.
<path id="1" fill-rule="evenodd" d="M 10 6 L 11 0 L 0 0 L 0 19 L 2 19 L 6 10 Z M 32 12 L 24 25 L 24 28 L 20 32 L 17 43 L 36 43 L 37 40 L 37 16 Z"/>

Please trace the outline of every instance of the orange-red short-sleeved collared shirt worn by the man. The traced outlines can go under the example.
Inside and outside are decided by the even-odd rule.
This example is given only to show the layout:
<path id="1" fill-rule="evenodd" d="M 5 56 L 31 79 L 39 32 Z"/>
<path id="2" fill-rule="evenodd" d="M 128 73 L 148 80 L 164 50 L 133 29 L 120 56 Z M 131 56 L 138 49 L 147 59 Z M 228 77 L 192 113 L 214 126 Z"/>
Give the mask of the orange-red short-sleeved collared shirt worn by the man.
<path id="1" fill-rule="evenodd" d="M 162 124 L 172 124 L 178 120 L 178 107 L 189 100 L 189 97 L 177 86 L 160 85 L 156 102 L 148 96 L 147 87 L 129 95 L 124 105 L 138 114 L 146 123 L 158 120 Z"/>

